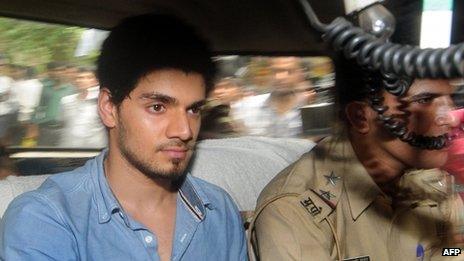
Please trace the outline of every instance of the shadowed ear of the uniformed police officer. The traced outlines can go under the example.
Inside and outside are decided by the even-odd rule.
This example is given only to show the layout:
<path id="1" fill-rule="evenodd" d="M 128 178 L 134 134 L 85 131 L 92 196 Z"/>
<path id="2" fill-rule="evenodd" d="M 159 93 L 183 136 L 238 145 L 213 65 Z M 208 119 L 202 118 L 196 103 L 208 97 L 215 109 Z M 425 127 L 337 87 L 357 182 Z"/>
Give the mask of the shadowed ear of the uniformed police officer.
<path id="1" fill-rule="evenodd" d="M 361 134 L 369 132 L 370 111 L 368 104 L 359 101 L 350 102 L 345 107 L 345 114 L 353 130 Z"/>

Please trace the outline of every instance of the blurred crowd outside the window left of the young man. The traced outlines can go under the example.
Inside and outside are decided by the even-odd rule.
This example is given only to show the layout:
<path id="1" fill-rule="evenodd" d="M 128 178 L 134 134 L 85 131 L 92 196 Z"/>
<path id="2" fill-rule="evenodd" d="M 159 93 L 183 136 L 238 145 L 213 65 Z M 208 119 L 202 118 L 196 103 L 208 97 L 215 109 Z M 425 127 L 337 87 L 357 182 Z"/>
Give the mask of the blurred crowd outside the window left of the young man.
<path id="1" fill-rule="evenodd" d="M 104 147 L 94 68 L 51 62 L 41 74 L 34 69 L 0 56 L 0 143 Z"/>

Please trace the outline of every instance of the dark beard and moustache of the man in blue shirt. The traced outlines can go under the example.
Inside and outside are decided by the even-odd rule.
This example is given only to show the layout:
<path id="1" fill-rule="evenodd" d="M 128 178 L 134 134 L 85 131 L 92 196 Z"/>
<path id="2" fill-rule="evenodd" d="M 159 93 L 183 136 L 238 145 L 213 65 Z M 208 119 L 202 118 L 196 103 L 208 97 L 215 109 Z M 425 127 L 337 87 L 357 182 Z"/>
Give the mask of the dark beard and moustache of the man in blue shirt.
<path id="1" fill-rule="evenodd" d="M 121 153 L 123 157 L 132 165 L 134 166 L 137 170 L 142 172 L 147 178 L 151 180 L 168 180 L 172 181 L 173 183 L 177 181 L 181 181 L 185 178 L 186 172 L 185 169 L 187 167 L 187 164 L 185 165 L 182 164 L 181 159 L 172 159 L 171 164 L 173 165 L 173 169 L 170 171 L 165 171 L 156 166 L 156 162 L 149 162 L 147 160 L 144 160 L 143 158 L 140 157 L 142 154 L 141 152 L 136 151 L 135 149 L 131 148 L 130 146 L 127 146 L 127 143 L 125 142 L 126 140 L 126 128 L 124 124 L 122 123 L 121 120 L 120 122 L 120 131 L 118 135 L 118 145 L 121 150 Z M 182 141 L 172 141 L 168 144 L 163 144 L 158 146 L 157 148 L 154 149 L 154 151 L 159 151 L 163 147 L 167 146 L 182 146 L 182 147 L 187 147 L 189 149 L 193 149 L 192 145 L 185 144 Z M 185 159 L 185 161 L 188 161 L 188 159 Z"/>

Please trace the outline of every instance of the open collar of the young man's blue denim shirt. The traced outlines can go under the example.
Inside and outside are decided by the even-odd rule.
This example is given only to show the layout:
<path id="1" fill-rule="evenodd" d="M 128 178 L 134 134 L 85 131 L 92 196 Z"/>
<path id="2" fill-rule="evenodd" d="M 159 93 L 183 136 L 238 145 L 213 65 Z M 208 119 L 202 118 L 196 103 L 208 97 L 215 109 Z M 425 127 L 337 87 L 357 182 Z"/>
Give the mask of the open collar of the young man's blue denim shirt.
<path id="1" fill-rule="evenodd" d="M 119 202 L 111 191 L 103 168 L 103 161 L 108 153 L 108 149 L 102 151 L 93 162 L 92 177 L 94 177 L 95 202 L 97 204 L 98 221 L 106 223 L 111 219 L 111 215 L 121 209 Z M 179 197 L 186 207 L 190 210 L 190 214 L 202 221 L 206 215 L 206 208 L 214 209 L 208 196 L 201 188 L 195 178 L 190 174 L 182 182 L 179 190 Z"/>

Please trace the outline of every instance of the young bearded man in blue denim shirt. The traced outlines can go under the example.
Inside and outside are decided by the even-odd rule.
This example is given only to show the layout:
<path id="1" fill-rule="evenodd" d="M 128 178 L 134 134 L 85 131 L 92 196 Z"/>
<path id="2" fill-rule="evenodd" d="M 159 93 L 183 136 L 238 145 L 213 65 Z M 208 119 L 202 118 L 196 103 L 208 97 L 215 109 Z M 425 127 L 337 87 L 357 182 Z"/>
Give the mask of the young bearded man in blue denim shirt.
<path id="1" fill-rule="evenodd" d="M 214 71 L 176 18 L 115 27 L 98 60 L 108 150 L 11 203 L 0 259 L 246 260 L 231 198 L 186 173 Z"/>

